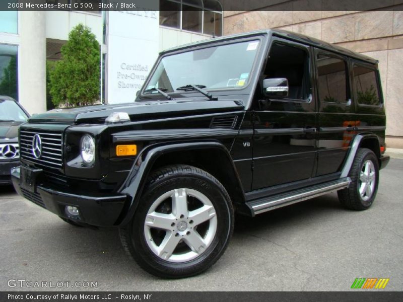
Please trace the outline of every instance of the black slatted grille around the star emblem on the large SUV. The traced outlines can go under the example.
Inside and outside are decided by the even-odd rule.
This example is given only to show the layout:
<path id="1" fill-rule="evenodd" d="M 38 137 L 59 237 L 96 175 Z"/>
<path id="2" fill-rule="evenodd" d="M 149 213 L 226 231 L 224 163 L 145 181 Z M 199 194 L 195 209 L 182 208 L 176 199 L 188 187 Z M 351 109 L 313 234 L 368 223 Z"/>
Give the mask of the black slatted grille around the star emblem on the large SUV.
<path id="1" fill-rule="evenodd" d="M 39 134 L 42 141 L 42 153 L 39 158 L 33 154 L 33 140 L 35 134 Z M 21 158 L 34 164 L 44 167 L 61 169 L 63 166 L 62 157 L 62 133 L 56 131 L 21 129 L 20 131 L 20 153 Z"/>

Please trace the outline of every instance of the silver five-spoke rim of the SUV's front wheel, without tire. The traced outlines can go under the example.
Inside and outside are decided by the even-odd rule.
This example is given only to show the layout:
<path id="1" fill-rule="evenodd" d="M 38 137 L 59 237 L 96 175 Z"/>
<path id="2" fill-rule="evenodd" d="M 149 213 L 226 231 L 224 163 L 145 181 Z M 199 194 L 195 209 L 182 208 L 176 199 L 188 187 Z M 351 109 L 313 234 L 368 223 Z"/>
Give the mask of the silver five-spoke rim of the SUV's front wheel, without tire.
<path id="1" fill-rule="evenodd" d="M 158 197 L 144 223 L 149 248 L 171 262 L 189 261 L 202 254 L 216 232 L 214 205 L 206 195 L 193 189 L 174 189 Z"/>

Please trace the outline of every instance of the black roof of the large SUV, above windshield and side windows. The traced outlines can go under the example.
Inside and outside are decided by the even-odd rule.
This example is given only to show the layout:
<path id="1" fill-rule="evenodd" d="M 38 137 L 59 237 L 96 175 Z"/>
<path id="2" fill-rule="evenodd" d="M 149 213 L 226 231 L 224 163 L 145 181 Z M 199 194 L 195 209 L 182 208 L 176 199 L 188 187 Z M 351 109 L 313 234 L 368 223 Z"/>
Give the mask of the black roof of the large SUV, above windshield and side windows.
<path id="1" fill-rule="evenodd" d="M 282 38 L 286 38 L 286 39 L 290 39 L 299 43 L 304 43 L 307 45 L 311 45 L 320 49 L 324 49 L 327 51 L 331 51 L 334 53 L 338 53 L 341 55 L 346 55 L 349 57 L 353 57 L 359 60 L 363 60 L 372 64 L 377 64 L 378 60 L 371 58 L 369 56 L 363 55 L 361 53 L 358 52 L 354 52 L 352 50 L 349 50 L 347 48 L 338 46 L 338 45 L 334 45 L 313 37 L 309 37 L 309 36 L 305 36 L 302 34 L 298 34 L 298 33 L 294 33 L 294 32 L 290 32 L 290 31 L 286 31 L 286 30 L 280 30 L 280 29 L 276 29 L 276 30 L 272 30 L 272 29 L 267 29 L 267 30 L 258 30 L 258 31 L 252 31 L 252 32 L 247 32 L 247 33 L 241 33 L 241 34 L 235 34 L 235 35 L 229 35 L 229 36 L 222 36 L 219 38 L 213 38 L 213 39 L 208 39 L 208 40 L 201 40 L 201 41 L 197 41 L 197 42 L 193 42 L 193 43 L 189 43 L 189 44 L 185 44 L 185 45 L 180 45 L 180 46 L 176 46 L 173 48 L 169 48 L 166 49 L 164 51 L 161 52 L 161 54 L 165 54 L 168 52 L 173 52 L 173 51 L 178 51 L 178 50 L 184 50 L 186 48 L 191 48 L 194 46 L 198 46 L 198 45 L 207 45 L 207 44 L 211 44 L 211 43 L 215 43 L 215 42 L 220 42 L 220 41 L 227 41 L 227 40 L 233 40 L 233 39 L 238 39 L 238 38 L 244 38 L 244 37 L 250 37 L 250 36 L 257 36 L 257 35 L 273 35 L 273 36 L 277 36 L 277 37 L 282 37 Z"/>

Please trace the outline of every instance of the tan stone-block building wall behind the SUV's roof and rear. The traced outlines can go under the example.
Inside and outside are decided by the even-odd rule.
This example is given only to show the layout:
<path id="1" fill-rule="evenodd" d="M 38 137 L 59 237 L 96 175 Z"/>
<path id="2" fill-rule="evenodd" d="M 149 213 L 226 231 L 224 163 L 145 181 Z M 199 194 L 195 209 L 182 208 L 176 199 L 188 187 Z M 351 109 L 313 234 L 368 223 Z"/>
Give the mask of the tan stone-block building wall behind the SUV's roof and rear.
<path id="1" fill-rule="evenodd" d="M 394 2 L 397 3 L 397 2 Z M 387 145 L 403 148 L 403 6 L 384 11 L 293 11 L 292 2 L 273 11 L 224 12 L 224 35 L 263 28 L 284 29 L 324 40 L 379 60 L 387 115 Z"/>

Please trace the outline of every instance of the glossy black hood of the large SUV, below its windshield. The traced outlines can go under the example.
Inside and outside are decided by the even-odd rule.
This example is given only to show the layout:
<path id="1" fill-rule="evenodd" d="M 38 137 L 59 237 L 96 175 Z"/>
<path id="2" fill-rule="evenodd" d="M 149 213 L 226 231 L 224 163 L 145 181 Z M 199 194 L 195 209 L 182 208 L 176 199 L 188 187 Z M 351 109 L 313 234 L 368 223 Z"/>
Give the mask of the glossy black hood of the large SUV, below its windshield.
<path id="1" fill-rule="evenodd" d="M 104 122 L 113 112 L 127 112 L 132 121 L 157 117 L 175 117 L 200 113 L 213 113 L 243 110 L 241 101 L 155 101 L 135 102 L 118 105 L 95 105 L 71 109 L 53 109 L 46 113 L 36 114 L 29 122 L 80 123 Z"/>

